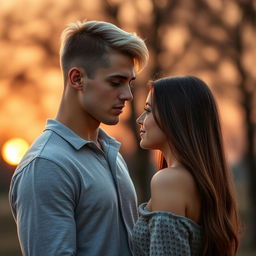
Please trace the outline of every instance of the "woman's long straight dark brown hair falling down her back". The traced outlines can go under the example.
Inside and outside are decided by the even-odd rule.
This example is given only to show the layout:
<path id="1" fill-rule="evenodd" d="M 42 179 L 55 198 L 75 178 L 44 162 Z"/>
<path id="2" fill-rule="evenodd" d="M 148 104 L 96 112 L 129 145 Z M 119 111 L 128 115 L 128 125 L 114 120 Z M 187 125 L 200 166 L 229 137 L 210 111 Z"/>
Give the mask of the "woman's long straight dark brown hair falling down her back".
<path id="1" fill-rule="evenodd" d="M 239 219 L 219 115 L 208 86 L 192 76 L 152 83 L 153 115 L 174 157 L 193 175 L 201 197 L 202 255 L 235 255 Z M 165 159 L 160 159 L 166 166 Z"/>

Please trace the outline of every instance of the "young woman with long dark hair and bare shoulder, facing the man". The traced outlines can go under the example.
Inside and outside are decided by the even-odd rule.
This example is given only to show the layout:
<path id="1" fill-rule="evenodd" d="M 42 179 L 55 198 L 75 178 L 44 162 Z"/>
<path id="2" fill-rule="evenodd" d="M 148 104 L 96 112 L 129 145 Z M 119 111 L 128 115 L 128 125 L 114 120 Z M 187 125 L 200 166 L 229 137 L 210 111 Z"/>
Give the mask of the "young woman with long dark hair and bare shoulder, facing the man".
<path id="1" fill-rule="evenodd" d="M 160 168 L 139 206 L 134 255 L 235 255 L 238 214 L 211 91 L 192 76 L 150 87 L 137 122 L 140 146 L 160 150 Z"/>

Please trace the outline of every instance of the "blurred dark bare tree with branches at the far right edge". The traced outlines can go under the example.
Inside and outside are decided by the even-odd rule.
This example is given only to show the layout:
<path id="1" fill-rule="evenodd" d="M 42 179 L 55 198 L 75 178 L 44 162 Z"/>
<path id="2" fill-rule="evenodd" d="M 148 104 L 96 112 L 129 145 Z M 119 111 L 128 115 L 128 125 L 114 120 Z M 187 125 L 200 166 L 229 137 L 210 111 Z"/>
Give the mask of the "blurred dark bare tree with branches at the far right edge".
<path id="1" fill-rule="evenodd" d="M 232 1 L 231 1 L 232 2 Z M 246 126 L 246 152 L 245 160 L 246 167 L 249 173 L 249 195 L 250 206 L 252 212 L 251 225 L 247 228 L 251 229 L 252 245 L 256 246 L 256 161 L 255 161 L 255 110 L 253 105 L 256 100 L 256 81 L 250 71 L 246 68 L 243 62 L 243 57 L 246 50 L 245 36 L 246 29 L 255 30 L 256 10 L 253 1 L 233 1 L 237 4 L 241 15 L 240 21 L 237 24 L 230 26 L 225 23 L 221 15 L 219 15 L 212 7 L 204 0 L 197 1 L 194 13 L 204 13 L 207 16 L 206 23 L 208 26 L 215 26 L 221 29 L 226 37 L 223 40 L 217 40 L 212 37 L 209 30 L 201 30 L 196 22 L 190 22 L 188 25 L 194 37 L 207 45 L 213 46 L 220 53 L 222 58 L 227 57 L 232 60 L 239 74 L 240 80 L 236 83 L 240 100 L 237 103 L 244 111 L 244 122 Z M 225 90 L 222 90 L 222 92 Z M 230 93 L 230 89 L 226 90 L 226 95 Z"/>

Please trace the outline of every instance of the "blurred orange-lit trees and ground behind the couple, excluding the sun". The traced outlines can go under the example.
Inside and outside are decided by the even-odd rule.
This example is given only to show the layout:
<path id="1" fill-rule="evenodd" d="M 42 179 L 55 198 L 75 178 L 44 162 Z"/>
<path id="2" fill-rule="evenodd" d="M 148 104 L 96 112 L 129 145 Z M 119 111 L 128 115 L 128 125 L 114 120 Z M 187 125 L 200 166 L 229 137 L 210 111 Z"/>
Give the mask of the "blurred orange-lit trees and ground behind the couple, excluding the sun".
<path id="1" fill-rule="evenodd" d="M 227 159 L 244 225 L 240 256 L 256 253 L 256 1 L 255 0 L 0 0 L 0 148 L 29 143 L 54 118 L 63 88 L 59 37 L 75 20 L 104 20 L 136 32 L 150 51 L 134 101 L 117 126 L 139 202 L 149 199 L 154 152 L 140 149 L 136 117 L 146 83 L 195 75 L 211 87 L 220 110 Z M 0 255 L 21 255 L 7 201 L 15 167 L 0 156 Z"/>

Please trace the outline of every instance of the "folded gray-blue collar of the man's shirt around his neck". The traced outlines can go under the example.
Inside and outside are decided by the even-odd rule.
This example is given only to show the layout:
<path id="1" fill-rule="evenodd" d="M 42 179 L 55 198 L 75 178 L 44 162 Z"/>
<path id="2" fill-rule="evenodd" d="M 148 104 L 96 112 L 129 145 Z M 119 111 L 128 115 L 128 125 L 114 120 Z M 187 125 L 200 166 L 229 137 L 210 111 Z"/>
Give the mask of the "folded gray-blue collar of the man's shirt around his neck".
<path id="1" fill-rule="evenodd" d="M 68 128 L 63 123 L 54 120 L 48 119 L 46 124 L 46 130 L 51 130 L 61 136 L 64 140 L 70 143 L 76 150 L 81 149 L 83 146 L 87 144 L 92 144 L 94 142 L 85 140 L 79 135 L 77 135 L 74 131 Z M 120 143 L 116 141 L 114 138 L 109 136 L 103 129 L 99 128 L 99 140 L 101 143 L 114 146 L 115 148 L 120 148 Z"/>

